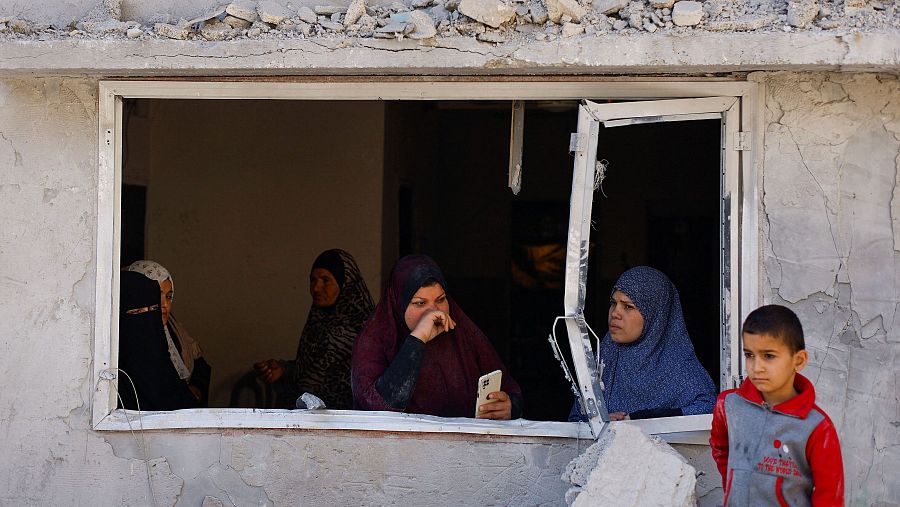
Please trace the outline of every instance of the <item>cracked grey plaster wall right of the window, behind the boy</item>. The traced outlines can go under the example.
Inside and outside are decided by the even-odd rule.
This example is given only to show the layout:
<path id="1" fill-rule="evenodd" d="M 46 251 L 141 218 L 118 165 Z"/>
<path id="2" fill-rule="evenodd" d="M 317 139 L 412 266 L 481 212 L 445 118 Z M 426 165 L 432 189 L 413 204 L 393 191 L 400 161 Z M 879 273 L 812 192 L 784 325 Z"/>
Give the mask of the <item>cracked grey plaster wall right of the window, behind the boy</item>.
<path id="1" fill-rule="evenodd" d="M 763 293 L 800 316 L 851 504 L 900 503 L 900 82 L 766 83 Z"/>

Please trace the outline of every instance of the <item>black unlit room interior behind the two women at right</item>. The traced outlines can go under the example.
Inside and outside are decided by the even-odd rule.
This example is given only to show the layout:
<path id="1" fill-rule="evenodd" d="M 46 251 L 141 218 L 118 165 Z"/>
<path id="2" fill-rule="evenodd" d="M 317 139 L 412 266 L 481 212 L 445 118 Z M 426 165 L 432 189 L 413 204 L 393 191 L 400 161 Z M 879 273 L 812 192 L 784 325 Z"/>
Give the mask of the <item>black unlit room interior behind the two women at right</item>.
<path id="1" fill-rule="evenodd" d="M 526 103 L 522 190 L 513 195 L 509 102 L 391 102 L 385 111 L 385 217 L 399 229 L 396 251 L 441 265 L 449 294 L 521 385 L 532 420 L 566 420 L 574 400 L 547 339 L 563 312 L 576 120 L 577 102 Z M 714 379 L 720 125 L 601 130 L 598 158 L 607 170 L 594 196 L 585 311 L 602 337 L 618 275 L 638 265 L 660 269 L 678 287 L 697 355 Z M 562 326 L 557 332 L 568 355 Z"/>

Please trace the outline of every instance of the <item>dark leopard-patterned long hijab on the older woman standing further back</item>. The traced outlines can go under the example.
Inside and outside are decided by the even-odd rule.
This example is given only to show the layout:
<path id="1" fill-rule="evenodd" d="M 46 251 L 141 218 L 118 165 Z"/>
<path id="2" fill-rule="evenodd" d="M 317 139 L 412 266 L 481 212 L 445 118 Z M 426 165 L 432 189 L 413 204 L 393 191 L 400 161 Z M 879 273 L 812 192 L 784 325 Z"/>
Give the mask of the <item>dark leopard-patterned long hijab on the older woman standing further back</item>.
<path id="1" fill-rule="evenodd" d="M 356 261 L 344 250 L 322 252 L 313 262 L 327 269 L 340 287 L 335 303 L 320 308 L 313 305 L 306 317 L 297 345 L 294 378 L 289 380 L 288 404 L 304 392 L 322 398 L 329 408 L 349 409 L 353 404 L 350 389 L 350 355 L 356 336 L 372 313 L 374 303 Z"/>

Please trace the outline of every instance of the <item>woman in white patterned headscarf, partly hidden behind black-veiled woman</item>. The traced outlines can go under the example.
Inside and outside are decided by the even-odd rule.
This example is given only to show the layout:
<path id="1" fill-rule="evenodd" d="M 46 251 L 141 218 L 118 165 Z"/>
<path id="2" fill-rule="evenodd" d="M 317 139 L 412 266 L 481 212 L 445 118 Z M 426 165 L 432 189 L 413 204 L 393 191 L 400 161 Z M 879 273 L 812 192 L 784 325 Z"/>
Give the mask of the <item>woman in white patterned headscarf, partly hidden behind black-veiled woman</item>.
<path id="1" fill-rule="evenodd" d="M 141 273 L 159 283 L 160 308 L 162 309 L 169 358 L 172 360 L 178 376 L 187 382 L 198 405 L 207 406 L 212 368 L 203 358 L 200 344 L 188 334 L 184 326 L 179 324 L 172 314 L 172 302 L 175 300 L 175 282 L 172 280 L 172 275 L 159 263 L 150 260 L 135 261 L 126 269 Z"/>

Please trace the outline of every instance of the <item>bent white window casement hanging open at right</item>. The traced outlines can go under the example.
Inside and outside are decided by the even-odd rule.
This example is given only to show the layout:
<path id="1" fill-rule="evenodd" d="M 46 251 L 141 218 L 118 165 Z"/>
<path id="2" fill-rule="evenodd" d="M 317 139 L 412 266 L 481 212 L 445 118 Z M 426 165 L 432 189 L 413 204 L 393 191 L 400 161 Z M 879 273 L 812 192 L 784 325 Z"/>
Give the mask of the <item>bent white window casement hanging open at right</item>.
<path id="1" fill-rule="evenodd" d="M 739 358 L 737 321 L 739 272 L 738 237 L 738 167 L 737 157 L 728 156 L 738 141 L 740 101 L 735 97 L 659 100 L 597 104 L 583 100 L 578 108 L 578 131 L 572 135 L 570 151 L 574 153 L 572 196 L 569 212 L 569 236 L 566 253 L 564 308 L 566 331 L 572 351 L 577 378 L 578 396 L 594 437 L 599 437 L 609 421 L 603 397 L 601 366 L 591 345 L 589 324 L 584 309 L 587 295 L 588 249 L 591 233 L 591 208 L 597 188 L 597 160 L 603 159 L 604 147 L 599 145 L 602 128 L 628 127 L 644 123 L 680 122 L 719 119 L 721 121 L 720 162 L 720 353 L 723 364 L 720 385 L 731 387 L 738 378 L 740 365 L 731 358 Z M 732 167 L 733 166 L 733 167 Z M 648 182 L 652 184 L 652 182 Z M 598 344 L 599 345 L 599 344 Z M 681 416 L 670 431 L 692 432 L 709 429 L 710 416 Z M 674 421 L 673 421 L 674 422 Z M 656 424 L 647 422 L 644 424 Z M 643 424 L 642 424 L 643 425 Z"/>

